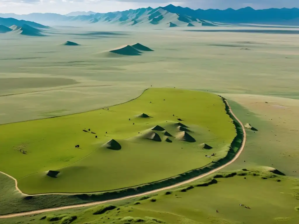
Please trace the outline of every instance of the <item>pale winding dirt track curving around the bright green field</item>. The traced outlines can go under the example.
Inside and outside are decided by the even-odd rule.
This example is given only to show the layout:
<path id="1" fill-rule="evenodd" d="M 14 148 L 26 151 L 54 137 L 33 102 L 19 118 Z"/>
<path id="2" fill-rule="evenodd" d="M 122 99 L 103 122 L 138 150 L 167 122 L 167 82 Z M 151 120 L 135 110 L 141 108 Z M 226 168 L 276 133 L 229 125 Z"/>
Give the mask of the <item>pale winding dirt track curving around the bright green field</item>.
<path id="1" fill-rule="evenodd" d="M 231 110 L 231 106 L 228 104 L 228 102 L 226 100 L 225 100 L 225 102 L 228 105 L 228 108 L 229 108 L 229 111 L 230 111 L 231 115 L 234 116 L 234 118 L 237 120 L 237 122 L 239 122 L 239 124 L 242 127 L 242 131 L 243 131 L 242 145 L 241 145 L 239 151 L 237 152 L 237 154 L 235 155 L 235 157 L 231 161 L 229 161 L 228 163 L 226 163 L 226 164 L 224 164 L 224 165 L 222 165 L 222 166 L 220 166 L 220 167 L 218 167 L 216 169 L 213 169 L 213 170 L 211 170 L 211 171 L 209 171 L 209 172 L 207 172 L 205 174 L 199 175 L 197 177 L 193 177 L 193 178 L 185 180 L 183 182 L 180 182 L 180 183 L 168 186 L 168 187 L 164 187 L 164 188 L 159 188 L 159 189 L 156 189 L 156 190 L 152 190 L 152 191 L 147 191 L 147 192 L 144 192 L 144 193 L 141 193 L 141 194 L 135 194 L 135 195 L 130 195 L 130 196 L 126 196 L 126 197 L 120 197 L 120 198 L 116 198 L 116 199 L 106 200 L 106 201 L 90 202 L 90 203 L 79 204 L 79 205 L 69 205 L 69 206 L 63 206 L 63 207 L 57 207 L 57 208 L 46 208 L 46 209 L 40 209 L 40 210 L 35 210 L 35 211 L 28 211 L 28 212 L 20 212 L 20 213 L 14 213 L 14 214 L 0 215 L 0 218 L 12 218 L 12 217 L 25 216 L 25 215 L 39 214 L 39 213 L 42 213 L 42 212 L 57 211 L 57 210 L 68 209 L 68 208 L 87 207 L 87 206 L 99 205 L 99 204 L 104 204 L 104 203 L 109 203 L 109 202 L 114 202 L 114 201 L 119 201 L 119 200 L 134 198 L 134 197 L 140 197 L 140 196 L 144 196 L 144 195 L 147 195 L 147 194 L 153 194 L 153 193 L 157 193 L 159 191 L 168 190 L 168 189 L 171 189 L 171 188 L 176 188 L 176 187 L 179 187 L 181 185 L 190 183 L 190 182 L 192 182 L 194 180 L 200 179 L 202 177 L 206 177 L 206 176 L 208 176 L 210 174 L 213 174 L 216 171 L 219 171 L 220 169 L 222 169 L 222 168 L 230 165 L 232 162 L 234 162 L 240 156 L 241 152 L 244 149 L 245 142 L 246 142 L 246 131 L 245 131 L 244 125 L 236 117 L 236 115 L 233 113 L 233 111 Z M 0 171 L 0 173 L 6 175 L 8 177 L 10 177 L 11 179 L 13 179 L 15 181 L 15 183 L 16 183 L 16 190 L 19 191 L 23 195 L 27 195 L 27 194 L 22 193 L 22 191 L 20 191 L 20 189 L 18 188 L 18 181 L 14 177 L 12 177 L 12 176 L 10 176 L 8 174 L 5 174 L 5 173 L 3 173 L 1 171 Z M 57 193 L 57 194 L 59 194 L 59 193 Z M 39 194 L 39 195 L 42 195 L 42 194 Z"/>

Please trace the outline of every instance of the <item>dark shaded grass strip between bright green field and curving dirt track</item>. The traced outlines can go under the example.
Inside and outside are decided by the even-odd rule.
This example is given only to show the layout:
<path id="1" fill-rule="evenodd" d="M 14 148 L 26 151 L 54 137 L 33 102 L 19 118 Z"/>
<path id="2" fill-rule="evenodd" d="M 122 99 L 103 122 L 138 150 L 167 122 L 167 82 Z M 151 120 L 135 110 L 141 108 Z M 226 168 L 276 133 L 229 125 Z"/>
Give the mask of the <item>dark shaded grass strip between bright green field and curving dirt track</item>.
<path id="1" fill-rule="evenodd" d="M 133 186 L 133 187 L 123 188 L 123 189 L 115 189 L 115 190 L 106 191 L 102 193 L 97 192 L 97 193 L 73 194 L 73 195 L 48 194 L 48 195 L 29 196 L 28 198 L 28 197 L 21 197 L 20 195 L 16 195 L 12 193 L 7 194 L 5 192 L 0 191 L 1 195 L 7 195 L 7 197 L 9 197 L 9 200 L 7 199 L 6 201 L 7 203 L 1 202 L 0 214 L 4 215 L 4 214 L 32 211 L 32 210 L 44 209 L 44 208 L 83 204 L 88 202 L 110 200 L 110 199 L 116 199 L 120 197 L 140 194 L 143 192 L 152 191 L 155 189 L 174 185 L 179 182 L 183 182 L 193 177 L 197 177 L 201 174 L 205 174 L 215 168 L 218 168 L 226 164 L 227 162 L 232 160 L 237 154 L 237 152 L 239 151 L 243 141 L 243 131 L 242 131 L 242 126 L 239 124 L 239 122 L 237 122 L 234 116 L 232 116 L 232 114 L 230 113 L 227 102 L 223 97 L 221 98 L 225 104 L 225 111 L 233 120 L 237 132 L 235 138 L 231 143 L 231 147 L 224 158 L 219 159 L 218 161 L 213 161 L 204 167 L 190 170 L 183 174 L 179 174 L 175 177 L 170 177 L 167 179 L 147 183 L 144 185 Z M 11 180 L 9 181 L 11 182 L 12 185 L 11 189 L 15 189 L 13 182 Z"/>

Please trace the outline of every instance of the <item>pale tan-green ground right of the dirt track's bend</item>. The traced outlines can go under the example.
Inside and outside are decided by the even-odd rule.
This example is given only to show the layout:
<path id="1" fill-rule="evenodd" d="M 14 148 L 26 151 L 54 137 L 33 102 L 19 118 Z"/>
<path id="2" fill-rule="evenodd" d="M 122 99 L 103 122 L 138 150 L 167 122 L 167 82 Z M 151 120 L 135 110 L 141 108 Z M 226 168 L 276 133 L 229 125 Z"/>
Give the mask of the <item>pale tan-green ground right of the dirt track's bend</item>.
<path id="1" fill-rule="evenodd" d="M 239 159 L 224 169 L 228 171 L 242 168 L 244 165 L 266 165 L 298 178 L 299 101 L 276 96 L 223 96 L 231 99 L 229 104 L 243 124 L 250 123 L 258 129 L 246 129 L 247 141 L 244 151 Z"/>

